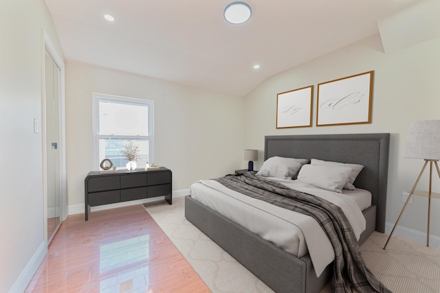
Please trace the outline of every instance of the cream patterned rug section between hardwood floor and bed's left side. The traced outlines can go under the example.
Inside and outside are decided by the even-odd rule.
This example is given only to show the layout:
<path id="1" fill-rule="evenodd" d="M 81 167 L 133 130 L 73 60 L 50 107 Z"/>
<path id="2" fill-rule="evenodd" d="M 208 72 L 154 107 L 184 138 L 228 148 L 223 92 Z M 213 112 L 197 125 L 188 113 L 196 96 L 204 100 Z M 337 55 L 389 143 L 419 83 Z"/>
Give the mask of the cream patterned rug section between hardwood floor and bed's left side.
<path id="1" fill-rule="evenodd" d="M 185 218 L 185 199 L 144 207 L 212 292 L 274 292 Z"/>

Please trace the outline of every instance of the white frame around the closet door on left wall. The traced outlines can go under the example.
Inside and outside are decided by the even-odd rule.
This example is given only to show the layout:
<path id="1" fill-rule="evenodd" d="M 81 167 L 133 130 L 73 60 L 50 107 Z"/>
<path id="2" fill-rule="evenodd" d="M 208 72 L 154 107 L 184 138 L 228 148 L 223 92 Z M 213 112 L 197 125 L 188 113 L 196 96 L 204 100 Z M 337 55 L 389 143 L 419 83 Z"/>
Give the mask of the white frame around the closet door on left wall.
<path id="1" fill-rule="evenodd" d="M 41 141 L 43 149 L 43 239 L 49 244 L 51 239 L 47 239 L 47 148 L 50 145 L 46 143 L 46 77 L 45 77 L 45 51 L 47 51 L 58 68 L 60 69 L 59 79 L 59 133 L 60 141 L 58 150 L 60 152 L 60 220 L 63 222 L 67 218 L 67 179 L 66 179 L 66 148 L 65 148 L 65 64 L 63 58 L 56 51 L 56 47 L 50 40 L 49 34 L 45 30 L 44 32 L 44 47 L 43 47 L 43 66 L 42 66 L 42 86 L 41 86 Z M 59 226 L 59 225 L 58 225 Z M 58 228 L 58 227 L 57 227 Z M 54 235 L 54 234 L 53 234 Z"/>

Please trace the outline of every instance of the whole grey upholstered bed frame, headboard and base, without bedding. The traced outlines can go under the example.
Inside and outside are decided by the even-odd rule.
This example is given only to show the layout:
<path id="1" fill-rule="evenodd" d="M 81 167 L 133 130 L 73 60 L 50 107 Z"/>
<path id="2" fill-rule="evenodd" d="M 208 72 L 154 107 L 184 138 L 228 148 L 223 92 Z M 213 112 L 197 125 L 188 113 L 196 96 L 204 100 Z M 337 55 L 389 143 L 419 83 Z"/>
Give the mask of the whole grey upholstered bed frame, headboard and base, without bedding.
<path id="1" fill-rule="evenodd" d="M 366 219 L 362 244 L 373 231 L 385 230 L 389 138 L 388 133 L 267 136 L 264 159 L 281 156 L 364 165 L 354 183 L 371 192 L 371 206 L 362 211 Z M 295 257 L 191 196 L 185 199 L 185 216 L 276 292 L 319 292 L 331 279 L 331 265 L 316 277 L 310 255 Z"/>

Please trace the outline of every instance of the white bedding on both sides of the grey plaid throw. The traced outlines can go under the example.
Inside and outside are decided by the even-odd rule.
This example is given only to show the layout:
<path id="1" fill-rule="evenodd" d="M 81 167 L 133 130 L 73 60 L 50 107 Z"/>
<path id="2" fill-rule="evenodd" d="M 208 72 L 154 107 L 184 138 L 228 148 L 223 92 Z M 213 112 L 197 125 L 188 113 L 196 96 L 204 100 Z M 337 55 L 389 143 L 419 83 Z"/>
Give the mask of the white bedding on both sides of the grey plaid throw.
<path id="1" fill-rule="evenodd" d="M 270 178 L 284 185 L 330 200 L 342 208 L 356 237 L 365 229 L 362 210 L 371 205 L 371 194 L 363 189 L 344 190 L 343 194 L 319 189 L 298 180 Z M 190 187 L 191 197 L 233 220 L 263 239 L 296 257 L 310 254 L 316 275 L 334 259 L 329 239 L 313 218 L 289 211 L 262 200 L 232 191 L 215 180 L 199 180 Z"/>

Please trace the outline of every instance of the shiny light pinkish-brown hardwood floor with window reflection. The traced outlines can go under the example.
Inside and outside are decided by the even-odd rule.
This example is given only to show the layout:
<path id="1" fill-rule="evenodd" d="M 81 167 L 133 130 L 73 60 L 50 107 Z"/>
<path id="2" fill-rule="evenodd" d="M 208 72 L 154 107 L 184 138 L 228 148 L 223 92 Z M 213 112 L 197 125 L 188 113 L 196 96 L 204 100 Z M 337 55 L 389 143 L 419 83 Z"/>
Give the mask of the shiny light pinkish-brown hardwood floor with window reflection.
<path id="1" fill-rule="evenodd" d="M 141 204 L 70 215 L 25 292 L 210 292 Z"/>

